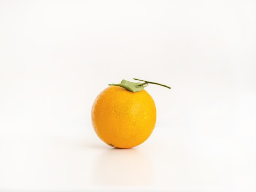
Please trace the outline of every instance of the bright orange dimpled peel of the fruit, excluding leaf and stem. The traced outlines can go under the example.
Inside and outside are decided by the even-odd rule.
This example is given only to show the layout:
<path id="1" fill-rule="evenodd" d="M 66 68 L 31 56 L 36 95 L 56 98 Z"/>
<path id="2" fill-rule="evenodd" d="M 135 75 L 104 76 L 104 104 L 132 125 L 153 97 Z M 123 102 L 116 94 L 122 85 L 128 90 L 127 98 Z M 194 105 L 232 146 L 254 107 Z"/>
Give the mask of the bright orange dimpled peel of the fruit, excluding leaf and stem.
<path id="1" fill-rule="evenodd" d="M 151 135 L 156 122 L 153 98 L 119 86 L 104 89 L 92 106 L 92 125 L 102 141 L 112 147 L 135 147 Z"/>

